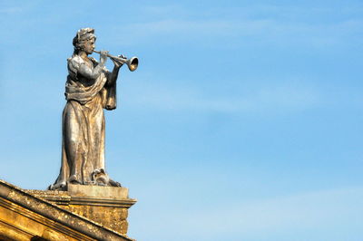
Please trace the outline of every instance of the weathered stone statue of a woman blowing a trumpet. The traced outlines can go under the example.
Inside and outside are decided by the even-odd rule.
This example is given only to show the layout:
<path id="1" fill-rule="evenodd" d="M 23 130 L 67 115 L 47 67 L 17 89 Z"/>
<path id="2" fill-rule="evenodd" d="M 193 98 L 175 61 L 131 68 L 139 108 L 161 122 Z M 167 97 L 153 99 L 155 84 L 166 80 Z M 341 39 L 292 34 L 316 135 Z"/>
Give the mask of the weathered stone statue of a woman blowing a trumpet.
<path id="1" fill-rule="evenodd" d="M 89 54 L 95 47 L 93 28 L 80 29 L 74 37 L 74 54 L 67 60 L 68 76 L 65 83 L 66 104 L 63 111 L 62 166 L 58 178 L 49 189 L 64 188 L 67 183 L 121 187 L 104 169 L 103 109 L 116 108 L 116 81 L 123 63 L 134 71 L 138 59 L 127 60 L 100 53 L 100 63 Z M 110 57 L 113 71 L 104 64 Z"/>

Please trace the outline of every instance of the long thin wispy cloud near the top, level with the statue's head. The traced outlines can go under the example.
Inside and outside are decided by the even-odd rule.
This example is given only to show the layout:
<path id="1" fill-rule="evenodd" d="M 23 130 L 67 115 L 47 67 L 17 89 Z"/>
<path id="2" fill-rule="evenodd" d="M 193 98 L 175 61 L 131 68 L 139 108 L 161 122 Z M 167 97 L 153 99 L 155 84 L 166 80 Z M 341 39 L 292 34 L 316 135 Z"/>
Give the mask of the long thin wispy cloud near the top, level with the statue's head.
<path id="1" fill-rule="evenodd" d="M 258 39 L 260 43 L 285 44 L 293 41 L 293 43 L 320 45 L 342 43 L 345 36 L 359 31 L 358 28 L 362 24 L 361 20 L 348 20 L 337 24 L 306 24 L 279 22 L 273 19 L 240 21 L 167 19 L 129 24 L 121 32 L 131 33 L 134 39 L 139 41 L 161 37 L 159 38 L 161 43 L 171 40 L 173 43 L 178 38 L 182 41 L 195 41 L 208 37 L 240 38 L 239 42 L 245 43 L 249 42 L 249 39 L 243 37 L 250 37 L 254 41 Z"/>

